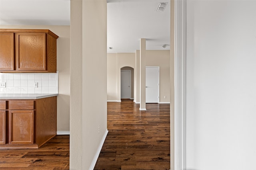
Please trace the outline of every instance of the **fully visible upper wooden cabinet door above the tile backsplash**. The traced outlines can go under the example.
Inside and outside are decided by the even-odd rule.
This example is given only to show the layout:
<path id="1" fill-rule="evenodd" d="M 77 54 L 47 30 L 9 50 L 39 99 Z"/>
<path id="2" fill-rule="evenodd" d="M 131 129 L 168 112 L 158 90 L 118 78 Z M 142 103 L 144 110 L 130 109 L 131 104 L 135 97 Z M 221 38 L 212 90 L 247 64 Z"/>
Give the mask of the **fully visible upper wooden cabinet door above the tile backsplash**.
<path id="1" fill-rule="evenodd" d="M 15 33 L 16 70 L 46 70 L 46 34 Z"/>

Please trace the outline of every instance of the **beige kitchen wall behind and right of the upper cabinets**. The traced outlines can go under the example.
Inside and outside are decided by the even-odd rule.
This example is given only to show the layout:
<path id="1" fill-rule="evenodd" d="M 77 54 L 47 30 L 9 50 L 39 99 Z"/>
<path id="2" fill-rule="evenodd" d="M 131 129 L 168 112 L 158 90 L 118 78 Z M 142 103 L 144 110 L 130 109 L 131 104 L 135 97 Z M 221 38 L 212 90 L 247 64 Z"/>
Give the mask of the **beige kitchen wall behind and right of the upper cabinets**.
<path id="1" fill-rule="evenodd" d="M 69 131 L 70 117 L 70 26 L 69 25 L 0 25 L 2 29 L 50 29 L 57 39 L 57 131 Z"/>

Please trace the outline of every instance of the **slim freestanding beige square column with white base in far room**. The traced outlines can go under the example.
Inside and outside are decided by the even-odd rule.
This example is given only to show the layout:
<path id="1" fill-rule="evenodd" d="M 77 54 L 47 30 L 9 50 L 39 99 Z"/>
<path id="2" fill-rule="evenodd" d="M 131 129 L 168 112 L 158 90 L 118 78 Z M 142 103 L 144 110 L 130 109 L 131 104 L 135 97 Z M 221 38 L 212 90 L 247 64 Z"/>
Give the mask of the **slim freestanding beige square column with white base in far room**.
<path id="1" fill-rule="evenodd" d="M 146 39 L 140 39 L 140 110 L 146 110 Z"/>

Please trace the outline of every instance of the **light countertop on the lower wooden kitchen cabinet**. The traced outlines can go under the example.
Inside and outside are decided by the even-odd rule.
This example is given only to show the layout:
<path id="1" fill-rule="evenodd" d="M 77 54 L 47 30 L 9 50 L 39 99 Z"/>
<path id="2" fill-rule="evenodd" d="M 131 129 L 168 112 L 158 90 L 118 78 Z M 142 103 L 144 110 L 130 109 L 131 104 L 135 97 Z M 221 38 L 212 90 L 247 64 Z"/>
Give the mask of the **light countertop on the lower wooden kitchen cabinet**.
<path id="1" fill-rule="evenodd" d="M 0 99 L 42 99 L 53 96 L 58 96 L 58 94 L 0 94 Z"/>

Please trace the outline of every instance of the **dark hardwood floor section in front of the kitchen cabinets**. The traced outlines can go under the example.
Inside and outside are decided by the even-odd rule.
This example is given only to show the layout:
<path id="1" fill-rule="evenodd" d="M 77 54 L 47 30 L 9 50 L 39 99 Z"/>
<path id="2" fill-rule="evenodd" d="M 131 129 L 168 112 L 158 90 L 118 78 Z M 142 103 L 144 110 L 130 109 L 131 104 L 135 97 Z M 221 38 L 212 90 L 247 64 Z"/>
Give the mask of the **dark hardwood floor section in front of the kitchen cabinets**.
<path id="1" fill-rule="evenodd" d="M 39 149 L 1 149 L 0 170 L 68 170 L 69 135 L 57 135 Z"/>

